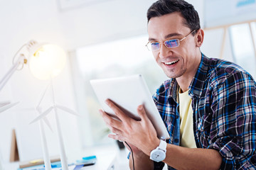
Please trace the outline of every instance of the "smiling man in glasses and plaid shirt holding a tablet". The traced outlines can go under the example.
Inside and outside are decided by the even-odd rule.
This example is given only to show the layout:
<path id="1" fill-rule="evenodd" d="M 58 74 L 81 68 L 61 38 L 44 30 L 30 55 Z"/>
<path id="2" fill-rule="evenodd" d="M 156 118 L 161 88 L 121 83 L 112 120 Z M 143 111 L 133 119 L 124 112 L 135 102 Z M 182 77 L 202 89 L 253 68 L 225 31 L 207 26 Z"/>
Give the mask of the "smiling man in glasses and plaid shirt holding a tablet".
<path id="1" fill-rule="evenodd" d="M 131 147 L 131 169 L 162 169 L 164 163 L 169 169 L 256 169 L 256 84 L 250 74 L 201 53 L 204 33 L 186 1 L 156 1 L 147 18 L 147 47 L 171 78 L 154 95 L 170 140 L 166 145 L 156 137 L 143 106 L 137 109 L 141 121 L 110 100 L 122 122 L 100 110 L 116 134 L 109 137 Z"/>

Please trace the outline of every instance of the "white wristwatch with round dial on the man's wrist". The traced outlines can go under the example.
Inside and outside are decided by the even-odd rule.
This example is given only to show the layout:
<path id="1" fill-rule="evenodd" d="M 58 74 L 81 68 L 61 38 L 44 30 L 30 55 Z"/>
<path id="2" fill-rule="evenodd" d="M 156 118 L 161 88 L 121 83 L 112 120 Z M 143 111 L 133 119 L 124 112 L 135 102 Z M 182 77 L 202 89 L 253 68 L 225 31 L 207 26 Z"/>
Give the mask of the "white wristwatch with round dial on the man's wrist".
<path id="1" fill-rule="evenodd" d="M 163 161 L 166 157 L 166 145 L 164 140 L 160 140 L 159 146 L 150 152 L 150 159 L 154 162 Z"/>

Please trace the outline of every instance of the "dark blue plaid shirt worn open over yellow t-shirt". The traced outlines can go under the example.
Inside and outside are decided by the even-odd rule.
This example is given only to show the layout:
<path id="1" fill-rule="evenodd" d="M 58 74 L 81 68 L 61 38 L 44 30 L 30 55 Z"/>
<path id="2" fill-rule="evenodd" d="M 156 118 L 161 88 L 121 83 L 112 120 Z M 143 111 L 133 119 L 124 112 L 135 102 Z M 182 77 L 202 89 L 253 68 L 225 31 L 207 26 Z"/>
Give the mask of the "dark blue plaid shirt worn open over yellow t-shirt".
<path id="1" fill-rule="evenodd" d="M 180 142 L 177 88 L 176 79 L 170 79 L 153 96 L 173 145 Z M 256 169 L 256 83 L 250 74 L 202 54 L 188 94 L 196 146 L 218 150 L 223 157 L 220 169 Z"/>

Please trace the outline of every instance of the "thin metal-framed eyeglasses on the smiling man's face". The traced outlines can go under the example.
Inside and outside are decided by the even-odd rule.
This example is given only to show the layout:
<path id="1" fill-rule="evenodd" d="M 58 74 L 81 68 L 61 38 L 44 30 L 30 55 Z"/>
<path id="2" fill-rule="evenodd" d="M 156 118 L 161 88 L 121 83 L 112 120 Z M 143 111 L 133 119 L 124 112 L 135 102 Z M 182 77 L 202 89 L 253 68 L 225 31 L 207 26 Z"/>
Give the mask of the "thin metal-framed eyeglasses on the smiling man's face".
<path id="1" fill-rule="evenodd" d="M 195 30 L 191 31 L 191 33 L 193 33 L 193 32 L 195 32 Z M 189 33 L 188 35 L 191 35 L 191 33 Z M 149 51 L 159 50 L 161 44 L 164 44 L 167 48 L 175 48 L 175 47 L 178 47 L 180 45 L 180 42 L 182 40 L 184 40 L 186 37 L 188 37 L 188 35 L 186 35 L 185 37 L 181 38 L 181 40 L 171 39 L 171 40 L 166 40 L 164 43 L 160 43 L 160 42 L 147 42 L 146 47 L 148 48 Z"/>

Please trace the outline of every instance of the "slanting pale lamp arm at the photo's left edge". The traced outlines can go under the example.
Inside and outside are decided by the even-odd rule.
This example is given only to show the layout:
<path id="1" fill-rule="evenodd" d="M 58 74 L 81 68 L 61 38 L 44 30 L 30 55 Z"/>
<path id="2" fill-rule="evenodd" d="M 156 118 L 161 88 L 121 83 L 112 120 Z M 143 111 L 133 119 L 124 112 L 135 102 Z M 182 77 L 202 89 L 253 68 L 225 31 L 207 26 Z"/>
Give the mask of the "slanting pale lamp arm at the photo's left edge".
<path id="1" fill-rule="evenodd" d="M 18 68 L 19 64 L 24 64 L 25 63 L 25 56 L 24 55 L 19 55 L 18 60 L 14 62 L 14 65 L 9 69 L 9 71 L 4 75 L 3 79 L 0 81 L 0 91 L 3 89 L 4 85 L 7 83 L 7 81 L 11 78 L 12 74 L 16 71 Z"/>

